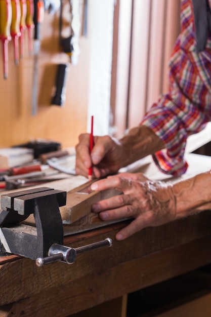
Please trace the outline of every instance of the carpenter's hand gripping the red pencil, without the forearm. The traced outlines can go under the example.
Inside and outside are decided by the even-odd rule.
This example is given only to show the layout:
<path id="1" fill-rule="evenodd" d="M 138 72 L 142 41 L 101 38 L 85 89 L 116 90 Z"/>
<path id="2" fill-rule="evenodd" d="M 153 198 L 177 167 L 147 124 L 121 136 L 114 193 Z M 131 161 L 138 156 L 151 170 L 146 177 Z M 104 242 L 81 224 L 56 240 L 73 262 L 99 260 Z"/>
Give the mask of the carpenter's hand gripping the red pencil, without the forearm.
<path id="1" fill-rule="evenodd" d="M 79 136 L 79 143 L 75 147 L 76 174 L 87 177 L 92 164 L 93 176 L 96 178 L 116 173 L 121 168 L 121 162 L 126 155 L 121 143 L 110 136 L 95 136 L 94 144 L 90 154 L 90 134 Z"/>

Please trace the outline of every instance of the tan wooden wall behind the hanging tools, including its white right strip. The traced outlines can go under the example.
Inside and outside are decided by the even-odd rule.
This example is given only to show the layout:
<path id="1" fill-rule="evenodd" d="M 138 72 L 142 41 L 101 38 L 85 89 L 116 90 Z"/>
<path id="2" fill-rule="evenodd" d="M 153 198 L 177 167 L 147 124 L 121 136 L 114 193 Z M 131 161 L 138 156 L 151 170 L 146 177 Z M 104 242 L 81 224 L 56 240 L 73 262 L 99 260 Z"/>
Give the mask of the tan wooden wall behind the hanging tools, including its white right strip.
<path id="1" fill-rule="evenodd" d="M 69 66 L 66 102 L 63 107 L 59 107 L 51 105 L 57 64 L 70 60 L 65 53 L 61 52 L 58 36 L 59 12 L 56 15 L 46 13 L 38 61 L 38 109 L 35 116 L 31 114 L 33 56 L 28 55 L 27 32 L 24 37 L 25 56 L 19 61 L 18 66 L 14 65 L 13 43 L 12 41 L 9 43 L 7 80 L 3 75 L 2 43 L 0 43 L 0 147 L 8 147 L 37 138 L 58 141 L 64 147 L 74 146 L 78 135 L 86 132 L 89 37 L 80 37 L 81 53 L 77 65 Z"/>

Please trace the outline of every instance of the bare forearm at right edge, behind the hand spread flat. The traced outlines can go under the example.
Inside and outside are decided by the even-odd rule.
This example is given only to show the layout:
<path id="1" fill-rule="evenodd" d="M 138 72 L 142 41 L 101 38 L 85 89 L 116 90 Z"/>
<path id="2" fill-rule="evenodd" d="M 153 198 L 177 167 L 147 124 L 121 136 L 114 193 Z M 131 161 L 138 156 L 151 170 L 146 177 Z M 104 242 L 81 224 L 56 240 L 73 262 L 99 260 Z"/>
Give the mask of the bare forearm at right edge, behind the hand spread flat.
<path id="1" fill-rule="evenodd" d="M 211 174 L 202 173 L 176 183 L 172 190 L 176 199 L 177 218 L 205 210 L 211 203 Z"/>

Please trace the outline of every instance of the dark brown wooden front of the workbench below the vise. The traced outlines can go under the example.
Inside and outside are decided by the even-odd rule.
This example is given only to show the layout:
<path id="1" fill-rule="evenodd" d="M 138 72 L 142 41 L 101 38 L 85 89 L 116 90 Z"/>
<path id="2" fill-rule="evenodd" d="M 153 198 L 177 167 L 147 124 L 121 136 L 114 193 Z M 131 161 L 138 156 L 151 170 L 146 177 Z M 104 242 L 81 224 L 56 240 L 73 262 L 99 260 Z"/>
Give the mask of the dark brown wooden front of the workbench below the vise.
<path id="1" fill-rule="evenodd" d="M 211 263 L 209 211 L 115 241 L 128 221 L 65 236 L 74 248 L 113 240 L 71 265 L 38 268 L 30 259 L 0 258 L 0 316 L 68 316 Z"/>

